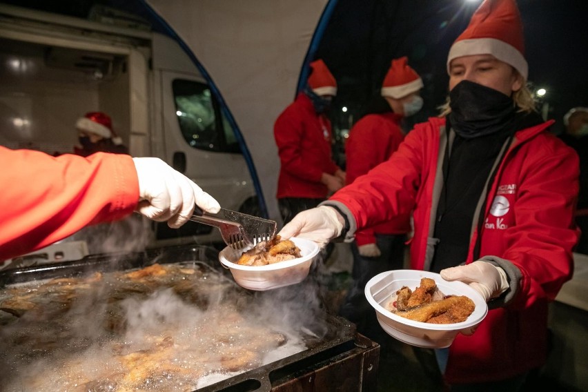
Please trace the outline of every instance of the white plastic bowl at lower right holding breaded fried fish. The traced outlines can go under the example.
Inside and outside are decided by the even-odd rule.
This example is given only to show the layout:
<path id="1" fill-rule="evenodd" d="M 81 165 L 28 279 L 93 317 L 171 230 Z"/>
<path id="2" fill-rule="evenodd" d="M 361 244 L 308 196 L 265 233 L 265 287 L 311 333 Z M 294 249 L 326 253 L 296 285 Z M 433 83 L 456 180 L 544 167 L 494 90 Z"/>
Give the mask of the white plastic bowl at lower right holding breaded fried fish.
<path id="1" fill-rule="evenodd" d="M 435 280 L 444 295 L 465 295 L 476 305 L 473 313 L 464 322 L 453 324 L 429 324 L 406 319 L 386 310 L 386 305 L 402 286 L 414 290 L 420 286 L 423 277 Z M 401 342 L 428 349 L 442 349 L 451 346 L 460 331 L 467 331 L 484 320 L 488 305 L 473 288 L 462 282 L 448 282 L 438 273 L 417 270 L 386 271 L 375 275 L 366 284 L 368 302 L 375 308 L 382 329 Z"/>

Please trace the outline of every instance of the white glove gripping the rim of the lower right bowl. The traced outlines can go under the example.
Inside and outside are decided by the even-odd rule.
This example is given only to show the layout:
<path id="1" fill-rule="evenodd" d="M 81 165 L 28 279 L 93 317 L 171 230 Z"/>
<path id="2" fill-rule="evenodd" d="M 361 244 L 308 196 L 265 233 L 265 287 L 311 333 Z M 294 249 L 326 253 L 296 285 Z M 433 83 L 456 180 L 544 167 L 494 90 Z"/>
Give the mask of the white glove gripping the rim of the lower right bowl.
<path id="1" fill-rule="evenodd" d="M 460 280 L 478 291 L 488 302 L 507 291 L 507 273 L 494 264 L 478 260 L 464 266 L 445 268 L 440 271 L 444 280 Z"/>

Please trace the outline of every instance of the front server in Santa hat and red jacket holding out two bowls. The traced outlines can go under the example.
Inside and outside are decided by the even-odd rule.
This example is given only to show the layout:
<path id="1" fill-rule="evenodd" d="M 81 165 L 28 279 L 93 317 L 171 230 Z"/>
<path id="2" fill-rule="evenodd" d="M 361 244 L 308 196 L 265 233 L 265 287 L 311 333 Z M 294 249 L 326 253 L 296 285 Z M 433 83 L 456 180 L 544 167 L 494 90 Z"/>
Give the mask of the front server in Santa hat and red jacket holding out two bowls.
<path id="1" fill-rule="evenodd" d="M 519 391 L 547 358 L 548 304 L 573 273 L 578 154 L 527 88 L 514 0 L 484 0 L 447 58 L 449 100 L 392 157 L 284 226 L 325 244 L 412 213 L 411 268 L 469 284 L 487 316 L 435 349 L 451 391 Z"/>

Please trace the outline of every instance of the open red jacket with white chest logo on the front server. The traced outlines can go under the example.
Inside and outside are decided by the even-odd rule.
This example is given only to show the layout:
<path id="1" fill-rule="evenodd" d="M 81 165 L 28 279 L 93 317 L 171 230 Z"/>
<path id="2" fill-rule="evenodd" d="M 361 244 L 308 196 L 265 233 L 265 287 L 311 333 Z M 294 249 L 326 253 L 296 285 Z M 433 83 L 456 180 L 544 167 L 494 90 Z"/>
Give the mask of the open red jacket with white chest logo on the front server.
<path id="1" fill-rule="evenodd" d="M 485 198 L 468 258 L 455 260 L 473 262 L 480 236 L 480 258 L 520 275 L 516 280 L 509 274 L 511 297 L 502 299 L 504 306 L 491 309 L 476 333 L 459 334 L 450 346 L 445 376 L 452 384 L 510 378 L 545 363 L 547 304 L 571 278 L 578 240 L 578 155 L 547 132 L 551 124 L 516 133 Z M 357 228 L 413 210 L 414 269 L 427 270 L 433 257 L 431 217 L 442 188 L 446 138 L 444 119 L 418 124 L 391 159 L 329 199 L 349 208 Z"/>

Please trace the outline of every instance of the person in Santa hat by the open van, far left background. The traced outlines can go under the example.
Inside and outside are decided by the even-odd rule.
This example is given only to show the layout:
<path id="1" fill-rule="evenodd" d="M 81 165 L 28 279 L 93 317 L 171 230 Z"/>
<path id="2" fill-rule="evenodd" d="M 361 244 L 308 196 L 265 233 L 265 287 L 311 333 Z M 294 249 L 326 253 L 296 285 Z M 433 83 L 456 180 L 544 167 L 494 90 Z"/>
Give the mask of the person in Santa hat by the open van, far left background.
<path id="1" fill-rule="evenodd" d="M 104 112 L 88 112 L 77 119 L 75 128 L 78 133 L 79 144 L 74 146 L 74 153 L 87 157 L 93 153 L 128 154 L 122 139 L 112 128 L 110 116 Z"/>

